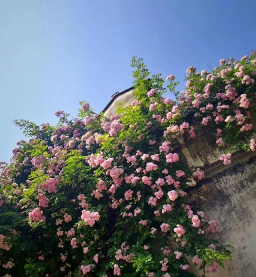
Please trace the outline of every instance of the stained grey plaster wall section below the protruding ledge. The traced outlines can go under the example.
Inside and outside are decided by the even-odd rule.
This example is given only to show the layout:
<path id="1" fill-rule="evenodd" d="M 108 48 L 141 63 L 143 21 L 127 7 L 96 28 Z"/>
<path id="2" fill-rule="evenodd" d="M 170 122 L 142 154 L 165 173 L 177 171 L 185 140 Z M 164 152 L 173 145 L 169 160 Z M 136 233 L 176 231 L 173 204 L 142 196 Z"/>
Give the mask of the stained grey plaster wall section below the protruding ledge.
<path id="1" fill-rule="evenodd" d="M 192 192 L 192 204 L 219 223 L 216 238 L 231 244 L 233 259 L 207 276 L 256 276 L 256 157 L 213 174 Z"/>

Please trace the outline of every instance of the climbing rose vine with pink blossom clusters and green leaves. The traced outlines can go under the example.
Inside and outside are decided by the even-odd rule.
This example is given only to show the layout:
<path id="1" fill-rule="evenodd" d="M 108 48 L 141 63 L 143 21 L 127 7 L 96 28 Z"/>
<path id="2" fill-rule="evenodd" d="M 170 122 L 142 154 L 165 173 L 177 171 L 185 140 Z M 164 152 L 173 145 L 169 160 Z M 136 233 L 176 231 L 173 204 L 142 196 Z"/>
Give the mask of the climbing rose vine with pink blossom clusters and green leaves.
<path id="1" fill-rule="evenodd" d="M 209 128 L 223 166 L 234 149 L 255 151 L 256 53 L 189 66 L 184 92 L 174 75 L 165 85 L 141 59 L 132 66 L 135 100 L 110 118 L 81 102 L 56 126 L 15 121 L 30 139 L 1 163 L 1 276 L 194 276 L 193 264 L 215 272 L 231 257 L 217 222 L 189 205 L 204 172 L 179 146 Z"/>

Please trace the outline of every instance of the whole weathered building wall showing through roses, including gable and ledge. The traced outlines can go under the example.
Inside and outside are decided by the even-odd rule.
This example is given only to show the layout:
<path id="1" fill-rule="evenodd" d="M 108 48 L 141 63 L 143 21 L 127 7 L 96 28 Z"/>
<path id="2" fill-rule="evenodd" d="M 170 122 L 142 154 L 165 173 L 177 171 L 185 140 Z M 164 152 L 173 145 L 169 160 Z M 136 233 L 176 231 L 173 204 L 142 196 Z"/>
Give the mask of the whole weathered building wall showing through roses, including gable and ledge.
<path id="1" fill-rule="evenodd" d="M 131 91 L 117 97 L 105 115 L 113 114 L 118 102 L 130 103 L 133 99 Z M 255 106 L 251 112 L 256 130 Z M 203 181 L 189 191 L 191 205 L 203 210 L 207 218 L 216 219 L 216 238 L 234 247 L 233 259 L 226 262 L 225 269 L 206 276 L 256 277 L 256 153 L 233 152 L 232 163 L 223 165 L 215 141 L 214 130 L 209 127 L 188 142 L 180 137 L 179 149 L 184 162 L 205 171 Z M 202 274 L 194 267 L 190 271 Z"/>

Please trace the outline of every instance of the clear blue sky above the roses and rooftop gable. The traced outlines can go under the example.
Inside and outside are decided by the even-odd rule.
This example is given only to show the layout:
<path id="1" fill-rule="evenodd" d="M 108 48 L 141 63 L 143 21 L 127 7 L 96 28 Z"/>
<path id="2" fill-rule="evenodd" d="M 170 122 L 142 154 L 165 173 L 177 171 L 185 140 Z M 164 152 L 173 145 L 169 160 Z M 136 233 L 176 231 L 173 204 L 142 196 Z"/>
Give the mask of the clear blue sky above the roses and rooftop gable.
<path id="1" fill-rule="evenodd" d="M 55 123 L 79 100 L 100 111 L 131 86 L 133 55 L 182 81 L 188 65 L 249 54 L 255 10 L 255 0 L 1 0 L 0 160 L 23 138 L 13 119 Z"/>

